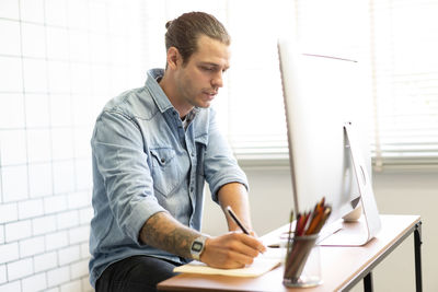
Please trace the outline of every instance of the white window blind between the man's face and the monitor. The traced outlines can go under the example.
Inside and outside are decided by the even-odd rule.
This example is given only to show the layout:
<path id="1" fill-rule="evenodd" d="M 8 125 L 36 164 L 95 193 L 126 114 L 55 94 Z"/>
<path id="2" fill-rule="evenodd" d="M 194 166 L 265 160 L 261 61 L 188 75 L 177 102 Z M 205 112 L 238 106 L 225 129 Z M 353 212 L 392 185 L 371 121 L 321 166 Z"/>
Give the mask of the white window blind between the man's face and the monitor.
<path id="1" fill-rule="evenodd" d="M 288 157 L 277 39 L 292 12 L 292 1 L 229 1 L 228 137 L 241 163 Z"/>

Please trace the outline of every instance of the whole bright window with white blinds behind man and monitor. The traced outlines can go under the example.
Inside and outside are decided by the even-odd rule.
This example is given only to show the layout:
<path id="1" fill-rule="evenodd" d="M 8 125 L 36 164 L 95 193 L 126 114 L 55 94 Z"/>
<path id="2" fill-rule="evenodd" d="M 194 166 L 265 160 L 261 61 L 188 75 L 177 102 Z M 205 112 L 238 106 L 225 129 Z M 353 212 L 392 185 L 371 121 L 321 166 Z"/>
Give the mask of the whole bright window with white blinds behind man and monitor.
<path id="1" fill-rule="evenodd" d="M 148 62 L 159 60 L 157 66 L 163 67 L 164 23 L 183 12 L 206 11 L 226 24 L 232 36 L 232 67 L 215 106 L 242 163 L 288 163 L 276 42 L 292 34 L 304 48 L 369 66 L 374 109 L 369 135 L 377 168 L 438 165 L 437 1 L 181 2 L 145 4 Z"/>

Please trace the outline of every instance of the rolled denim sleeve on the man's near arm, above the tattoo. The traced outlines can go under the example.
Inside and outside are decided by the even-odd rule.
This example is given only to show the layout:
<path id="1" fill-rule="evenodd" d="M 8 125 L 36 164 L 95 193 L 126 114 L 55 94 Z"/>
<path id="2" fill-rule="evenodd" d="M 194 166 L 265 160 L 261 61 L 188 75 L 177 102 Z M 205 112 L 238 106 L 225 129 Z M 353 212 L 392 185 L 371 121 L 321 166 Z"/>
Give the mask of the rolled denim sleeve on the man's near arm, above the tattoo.
<path id="1" fill-rule="evenodd" d="M 154 197 L 142 133 L 123 113 L 103 112 L 91 145 L 111 212 L 123 233 L 140 245 L 141 226 L 154 213 L 165 211 Z"/>

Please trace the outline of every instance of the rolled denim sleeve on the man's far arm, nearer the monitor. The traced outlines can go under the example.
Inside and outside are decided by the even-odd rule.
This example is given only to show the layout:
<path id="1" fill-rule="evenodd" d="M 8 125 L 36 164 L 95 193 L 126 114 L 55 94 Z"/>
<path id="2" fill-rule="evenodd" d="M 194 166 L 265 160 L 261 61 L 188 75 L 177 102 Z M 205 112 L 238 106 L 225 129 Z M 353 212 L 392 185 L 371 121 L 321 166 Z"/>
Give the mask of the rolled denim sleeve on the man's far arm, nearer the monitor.
<path id="1" fill-rule="evenodd" d="M 240 168 L 227 139 L 222 136 L 216 121 L 215 110 L 210 110 L 208 144 L 204 161 L 206 180 L 211 198 L 218 201 L 218 190 L 229 183 L 241 183 L 249 188 L 246 175 Z"/>

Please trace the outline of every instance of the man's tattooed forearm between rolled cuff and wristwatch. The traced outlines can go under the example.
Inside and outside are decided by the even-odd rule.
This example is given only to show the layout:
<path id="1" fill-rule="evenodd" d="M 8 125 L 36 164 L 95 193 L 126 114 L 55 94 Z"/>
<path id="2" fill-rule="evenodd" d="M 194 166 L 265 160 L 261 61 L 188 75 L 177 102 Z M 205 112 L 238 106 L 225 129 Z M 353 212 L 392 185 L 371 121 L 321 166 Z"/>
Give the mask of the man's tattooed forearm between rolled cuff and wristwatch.
<path id="1" fill-rule="evenodd" d="M 148 219 L 140 232 L 140 240 L 153 247 L 191 258 L 191 244 L 198 234 L 164 212 Z"/>

